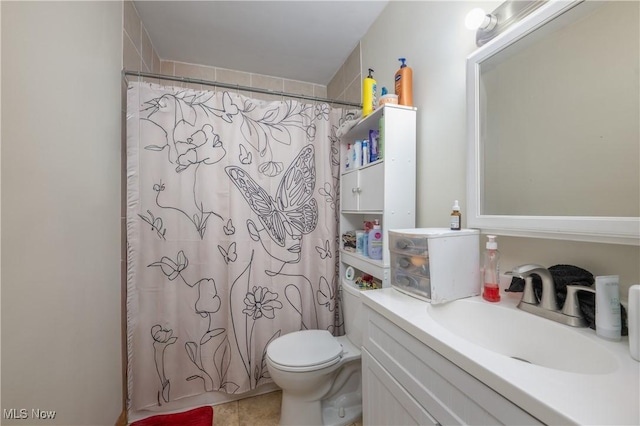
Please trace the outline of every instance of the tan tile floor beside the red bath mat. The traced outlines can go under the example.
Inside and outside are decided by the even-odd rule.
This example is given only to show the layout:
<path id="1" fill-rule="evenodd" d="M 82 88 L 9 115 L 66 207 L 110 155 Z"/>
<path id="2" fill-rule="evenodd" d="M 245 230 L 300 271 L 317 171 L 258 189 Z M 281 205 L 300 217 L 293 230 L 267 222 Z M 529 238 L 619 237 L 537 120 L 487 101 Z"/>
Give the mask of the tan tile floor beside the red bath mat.
<path id="1" fill-rule="evenodd" d="M 213 407 L 214 426 L 277 426 L 282 392 L 270 392 Z M 349 426 L 362 426 L 362 421 Z"/>

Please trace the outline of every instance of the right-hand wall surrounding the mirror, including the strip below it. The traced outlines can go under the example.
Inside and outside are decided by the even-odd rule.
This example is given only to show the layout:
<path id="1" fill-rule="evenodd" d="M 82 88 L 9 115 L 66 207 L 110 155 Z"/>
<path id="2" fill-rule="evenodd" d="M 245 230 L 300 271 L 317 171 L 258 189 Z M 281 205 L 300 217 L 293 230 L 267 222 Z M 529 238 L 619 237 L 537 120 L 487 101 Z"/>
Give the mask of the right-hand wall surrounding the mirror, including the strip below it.
<path id="1" fill-rule="evenodd" d="M 418 227 L 448 227 L 454 199 L 466 225 L 465 60 L 476 49 L 464 26 L 474 7 L 494 10 L 501 1 L 391 1 L 362 39 L 362 70 L 375 69 L 378 93 L 393 93 L 393 77 L 406 57 L 413 69 L 418 107 Z M 363 73 L 363 75 L 365 75 Z M 621 297 L 640 283 L 640 248 L 515 237 L 499 237 L 501 269 L 523 263 L 569 263 L 596 275 L 619 274 Z"/>

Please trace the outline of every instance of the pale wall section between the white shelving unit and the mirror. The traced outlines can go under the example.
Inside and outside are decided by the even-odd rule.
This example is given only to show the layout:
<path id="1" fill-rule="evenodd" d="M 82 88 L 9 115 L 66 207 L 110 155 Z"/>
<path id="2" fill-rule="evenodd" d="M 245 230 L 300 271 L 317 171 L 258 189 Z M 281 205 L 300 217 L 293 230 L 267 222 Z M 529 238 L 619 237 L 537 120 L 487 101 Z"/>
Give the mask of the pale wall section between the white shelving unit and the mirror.
<path id="1" fill-rule="evenodd" d="M 473 7 L 500 2 L 389 2 L 362 39 L 362 69 L 373 68 L 378 93 L 394 92 L 393 78 L 407 58 L 418 107 L 419 226 L 449 226 L 454 200 L 464 213 L 466 197 L 465 59 L 475 34 L 464 26 Z M 463 217 L 464 220 L 464 217 Z"/>

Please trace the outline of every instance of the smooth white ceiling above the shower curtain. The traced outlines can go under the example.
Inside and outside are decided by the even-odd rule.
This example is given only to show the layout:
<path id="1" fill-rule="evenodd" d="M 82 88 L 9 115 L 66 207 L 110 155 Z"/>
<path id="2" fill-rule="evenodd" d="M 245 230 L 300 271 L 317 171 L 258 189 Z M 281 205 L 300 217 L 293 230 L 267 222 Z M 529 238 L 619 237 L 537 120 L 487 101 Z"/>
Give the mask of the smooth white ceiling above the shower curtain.
<path id="1" fill-rule="evenodd" d="M 162 60 L 327 85 L 387 1 L 134 1 Z"/>

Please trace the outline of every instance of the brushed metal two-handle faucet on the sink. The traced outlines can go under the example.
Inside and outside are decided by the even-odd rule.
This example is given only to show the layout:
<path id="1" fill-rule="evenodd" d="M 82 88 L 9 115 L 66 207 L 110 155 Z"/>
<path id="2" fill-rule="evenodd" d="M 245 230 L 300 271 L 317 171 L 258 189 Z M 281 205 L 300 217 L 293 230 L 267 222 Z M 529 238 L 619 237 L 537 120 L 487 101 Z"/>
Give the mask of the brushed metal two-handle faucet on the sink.
<path id="1" fill-rule="evenodd" d="M 550 319 L 572 327 L 587 327 L 588 323 L 580 312 L 578 305 L 577 292 L 594 290 L 586 286 L 567 286 L 567 299 L 565 305 L 560 311 L 558 308 L 558 299 L 556 296 L 556 287 L 553 277 L 547 268 L 541 265 L 527 264 L 513 268 L 508 275 L 513 275 L 524 279 L 524 291 L 522 299 L 518 303 L 518 308 L 531 314 Z M 533 291 L 532 275 L 538 275 L 542 280 L 542 294 L 540 299 Z"/>

